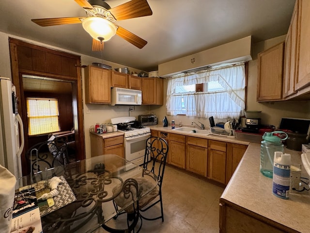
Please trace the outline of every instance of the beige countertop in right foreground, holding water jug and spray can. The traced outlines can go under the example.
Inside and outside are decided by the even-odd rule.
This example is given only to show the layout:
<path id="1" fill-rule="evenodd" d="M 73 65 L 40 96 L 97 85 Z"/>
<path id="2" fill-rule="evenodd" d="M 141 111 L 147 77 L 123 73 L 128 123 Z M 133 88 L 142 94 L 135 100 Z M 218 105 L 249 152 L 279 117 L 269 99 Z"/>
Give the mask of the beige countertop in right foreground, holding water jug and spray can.
<path id="1" fill-rule="evenodd" d="M 260 172 L 260 144 L 248 146 L 221 199 L 271 219 L 298 232 L 310 232 L 310 191 L 290 193 L 284 200 L 272 194 L 272 179 Z M 302 164 L 300 151 L 291 154 L 292 164 Z M 302 177 L 309 178 L 302 166 Z"/>

